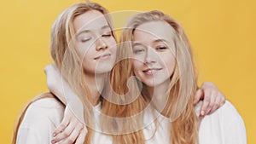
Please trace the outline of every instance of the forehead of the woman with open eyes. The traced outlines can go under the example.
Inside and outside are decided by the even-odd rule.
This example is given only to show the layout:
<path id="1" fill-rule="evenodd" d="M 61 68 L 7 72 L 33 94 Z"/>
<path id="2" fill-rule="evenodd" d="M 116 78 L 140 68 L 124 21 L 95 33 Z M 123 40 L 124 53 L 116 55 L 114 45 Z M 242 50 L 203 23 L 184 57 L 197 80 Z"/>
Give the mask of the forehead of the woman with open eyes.
<path id="1" fill-rule="evenodd" d="M 149 43 L 157 39 L 171 41 L 175 30 L 166 21 L 150 21 L 137 26 L 133 33 L 133 40 L 140 43 Z"/>

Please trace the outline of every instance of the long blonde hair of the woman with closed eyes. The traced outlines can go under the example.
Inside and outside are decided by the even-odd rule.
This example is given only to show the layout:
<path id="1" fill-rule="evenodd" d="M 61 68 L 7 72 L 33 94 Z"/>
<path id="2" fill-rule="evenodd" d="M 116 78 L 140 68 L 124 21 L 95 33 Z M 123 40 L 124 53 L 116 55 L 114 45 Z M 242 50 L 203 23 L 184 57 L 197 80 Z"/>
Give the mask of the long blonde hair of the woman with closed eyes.
<path id="1" fill-rule="evenodd" d="M 92 113 L 92 106 L 90 104 L 90 90 L 87 88 L 85 83 L 82 60 L 79 57 L 79 49 L 74 43 L 73 37 L 75 37 L 75 32 L 73 20 L 80 14 L 84 14 L 90 10 L 97 10 L 101 12 L 105 16 L 110 28 L 113 30 L 113 22 L 107 9 L 97 3 L 77 3 L 65 9 L 57 17 L 51 29 L 49 45 L 50 54 L 55 65 L 61 71 L 63 78 L 67 80 L 71 89 L 79 95 L 79 98 L 84 103 L 84 120 L 87 125 L 94 124 L 94 116 Z M 113 37 L 115 37 L 113 32 L 112 34 Z M 44 98 L 44 96 L 42 98 Z M 30 101 L 29 105 L 32 102 L 33 101 Z M 21 113 L 20 118 L 18 118 L 19 120 L 15 128 L 13 143 L 16 142 L 17 131 L 29 105 L 26 106 L 25 110 Z M 84 143 L 90 143 L 93 135 L 93 130 L 90 129 L 89 126 L 87 126 L 87 130 L 88 133 Z"/>

